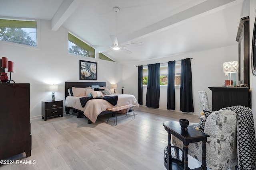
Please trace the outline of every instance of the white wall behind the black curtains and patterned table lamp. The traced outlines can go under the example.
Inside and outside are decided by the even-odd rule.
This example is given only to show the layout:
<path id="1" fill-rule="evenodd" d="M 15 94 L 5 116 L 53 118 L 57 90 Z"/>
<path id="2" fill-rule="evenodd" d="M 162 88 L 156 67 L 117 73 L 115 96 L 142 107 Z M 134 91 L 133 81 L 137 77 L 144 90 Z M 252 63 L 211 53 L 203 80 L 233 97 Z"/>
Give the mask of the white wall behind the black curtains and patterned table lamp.
<path id="1" fill-rule="evenodd" d="M 234 39 L 235 41 L 235 39 Z M 236 43 L 235 43 L 236 44 Z M 200 51 L 196 53 L 166 57 L 164 59 L 154 59 L 138 63 L 129 63 L 123 65 L 123 87 L 125 93 L 133 94 L 138 97 L 138 65 L 166 63 L 173 60 L 193 58 L 191 60 L 192 68 L 192 90 L 194 101 L 194 114 L 198 114 L 199 98 L 198 91 L 206 91 L 209 104 L 212 105 L 212 91 L 210 86 L 224 85 L 224 80 L 228 77 L 223 73 L 223 63 L 226 61 L 238 61 L 238 44 L 218 49 Z M 176 106 L 175 111 L 180 111 L 180 88 L 175 92 Z M 146 87 L 143 88 L 143 106 L 146 104 Z M 160 88 L 160 109 L 167 108 L 167 87 Z"/>

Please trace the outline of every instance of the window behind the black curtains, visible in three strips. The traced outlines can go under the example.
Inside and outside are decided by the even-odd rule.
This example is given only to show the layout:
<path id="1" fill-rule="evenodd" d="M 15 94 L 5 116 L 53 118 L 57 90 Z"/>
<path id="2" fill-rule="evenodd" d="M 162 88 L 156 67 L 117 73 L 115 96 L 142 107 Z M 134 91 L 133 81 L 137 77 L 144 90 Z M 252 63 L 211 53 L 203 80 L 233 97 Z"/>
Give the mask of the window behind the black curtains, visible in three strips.
<path id="1" fill-rule="evenodd" d="M 180 86 L 180 69 L 181 64 L 175 65 L 175 86 Z M 167 85 L 168 82 L 168 65 L 160 66 L 160 85 Z M 148 84 L 148 68 L 143 68 L 143 85 Z"/>

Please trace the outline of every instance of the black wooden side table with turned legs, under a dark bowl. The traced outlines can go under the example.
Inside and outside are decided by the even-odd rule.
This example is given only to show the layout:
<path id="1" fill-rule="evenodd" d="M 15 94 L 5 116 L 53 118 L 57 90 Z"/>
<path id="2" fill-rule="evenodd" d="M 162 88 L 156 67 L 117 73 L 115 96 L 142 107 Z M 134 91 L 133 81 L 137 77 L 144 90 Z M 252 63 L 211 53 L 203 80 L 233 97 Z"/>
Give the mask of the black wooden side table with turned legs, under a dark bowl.
<path id="1" fill-rule="evenodd" d="M 164 129 L 168 132 L 168 147 L 167 147 L 167 170 L 172 170 L 172 156 L 171 156 L 171 134 L 180 139 L 183 142 L 183 152 L 184 152 L 184 167 L 173 167 L 174 169 L 184 168 L 184 170 L 189 170 L 188 168 L 188 145 L 190 143 L 202 141 L 202 165 L 194 170 L 206 170 L 206 141 L 209 135 L 198 131 L 192 127 L 188 127 L 187 131 L 180 129 L 180 123 L 178 121 L 165 121 L 163 123 Z M 173 166 L 180 166 L 181 164 L 175 164 Z"/>

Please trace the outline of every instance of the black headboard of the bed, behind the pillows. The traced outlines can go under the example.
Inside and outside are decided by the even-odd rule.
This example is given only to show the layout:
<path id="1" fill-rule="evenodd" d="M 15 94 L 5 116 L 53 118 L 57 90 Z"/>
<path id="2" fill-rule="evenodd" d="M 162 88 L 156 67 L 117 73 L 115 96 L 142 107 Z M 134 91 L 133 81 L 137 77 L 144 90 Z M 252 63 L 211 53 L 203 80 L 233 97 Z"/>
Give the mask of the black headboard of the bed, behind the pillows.
<path id="1" fill-rule="evenodd" d="M 92 85 L 106 86 L 106 82 L 65 82 L 65 98 L 69 95 L 68 89 L 71 87 L 90 87 Z"/>

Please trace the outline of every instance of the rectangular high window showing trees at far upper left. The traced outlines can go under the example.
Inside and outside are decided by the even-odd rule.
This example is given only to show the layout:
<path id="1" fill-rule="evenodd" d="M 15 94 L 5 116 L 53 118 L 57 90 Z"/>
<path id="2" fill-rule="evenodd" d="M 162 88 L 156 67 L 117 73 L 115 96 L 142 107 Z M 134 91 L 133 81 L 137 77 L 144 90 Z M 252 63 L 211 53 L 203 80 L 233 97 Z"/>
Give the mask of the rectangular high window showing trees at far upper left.
<path id="1" fill-rule="evenodd" d="M 37 22 L 0 19 L 0 40 L 37 47 Z"/>

